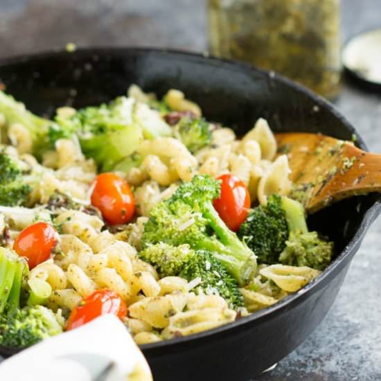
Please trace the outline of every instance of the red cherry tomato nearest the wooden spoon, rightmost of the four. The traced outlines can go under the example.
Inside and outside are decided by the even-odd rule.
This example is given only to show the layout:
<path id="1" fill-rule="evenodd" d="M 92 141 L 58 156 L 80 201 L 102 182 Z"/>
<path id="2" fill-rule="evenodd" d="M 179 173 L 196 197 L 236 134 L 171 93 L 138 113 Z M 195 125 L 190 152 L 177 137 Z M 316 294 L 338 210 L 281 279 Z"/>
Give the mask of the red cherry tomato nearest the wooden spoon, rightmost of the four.
<path id="1" fill-rule="evenodd" d="M 240 224 L 246 220 L 249 213 L 249 190 L 243 181 L 229 173 L 217 179 L 221 180 L 222 184 L 220 198 L 213 202 L 215 210 L 229 229 L 238 231 Z"/>

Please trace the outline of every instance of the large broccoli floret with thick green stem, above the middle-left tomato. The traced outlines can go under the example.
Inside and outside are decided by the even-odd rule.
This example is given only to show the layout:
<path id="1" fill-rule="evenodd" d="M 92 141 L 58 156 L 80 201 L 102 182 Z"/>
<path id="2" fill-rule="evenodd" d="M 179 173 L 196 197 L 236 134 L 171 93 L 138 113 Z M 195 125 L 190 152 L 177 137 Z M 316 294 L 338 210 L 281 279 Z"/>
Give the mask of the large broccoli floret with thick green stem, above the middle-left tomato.
<path id="1" fill-rule="evenodd" d="M 141 128 L 132 120 L 133 105 L 132 98 L 121 96 L 108 105 L 86 107 L 69 116 L 58 114 L 58 127 L 51 127 L 51 143 L 76 134 L 85 156 L 93 158 L 100 170 L 112 170 L 143 138 Z"/>

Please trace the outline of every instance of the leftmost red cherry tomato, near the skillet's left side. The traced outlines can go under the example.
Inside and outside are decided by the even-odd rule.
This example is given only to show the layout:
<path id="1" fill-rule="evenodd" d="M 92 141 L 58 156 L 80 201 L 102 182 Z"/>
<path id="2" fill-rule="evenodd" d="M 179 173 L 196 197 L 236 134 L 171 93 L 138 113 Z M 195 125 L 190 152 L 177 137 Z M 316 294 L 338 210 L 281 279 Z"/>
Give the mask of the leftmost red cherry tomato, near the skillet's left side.
<path id="1" fill-rule="evenodd" d="M 13 249 L 28 260 L 29 269 L 44 262 L 57 244 L 57 231 L 46 222 L 37 222 L 19 233 Z"/>

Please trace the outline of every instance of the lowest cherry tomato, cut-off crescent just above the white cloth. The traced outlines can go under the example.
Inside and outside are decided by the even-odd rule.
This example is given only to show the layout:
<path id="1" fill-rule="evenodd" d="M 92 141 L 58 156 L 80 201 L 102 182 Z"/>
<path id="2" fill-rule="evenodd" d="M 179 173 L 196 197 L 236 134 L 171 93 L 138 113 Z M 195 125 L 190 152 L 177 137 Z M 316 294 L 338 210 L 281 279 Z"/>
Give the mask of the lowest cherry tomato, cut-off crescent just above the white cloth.
<path id="1" fill-rule="evenodd" d="M 112 290 L 96 290 L 73 308 L 66 329 L 78 328 L 103 314 L 114 314 L 123 319 L 127 315 L 127 305 Z"/>

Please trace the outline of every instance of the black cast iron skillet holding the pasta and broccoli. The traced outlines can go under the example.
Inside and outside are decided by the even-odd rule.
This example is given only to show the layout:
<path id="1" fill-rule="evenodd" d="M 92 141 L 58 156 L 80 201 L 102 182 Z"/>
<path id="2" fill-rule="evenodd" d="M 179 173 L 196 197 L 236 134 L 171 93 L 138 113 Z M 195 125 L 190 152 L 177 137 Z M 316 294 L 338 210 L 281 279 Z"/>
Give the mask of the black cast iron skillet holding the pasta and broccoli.
<path id="1" fill-rule="evenodd" d="M 0 79 L 8 93 L 48 116 L 65 104 L 98 105 L 136 83 L 159 96 L 180 89 L 206 118 L 238 134 L 262 116 L 277 132 L 321 132 L 348 140 L 355 134 L 366 149 L 332 105 L 303 87 L 246 64 L 201 55 L 139 48 L 47 53 L 0 62 Z M 353 197 L 312 215 L 310 227 L 335 240 L 338 254 L 299 292 L 227 326 L 143 345 L 155 380 L 245 381 L 294 350 L 335 300 L 366 229 L 380 212 L 380 201 L 374 194 Z"/>

